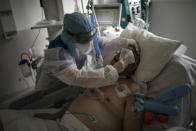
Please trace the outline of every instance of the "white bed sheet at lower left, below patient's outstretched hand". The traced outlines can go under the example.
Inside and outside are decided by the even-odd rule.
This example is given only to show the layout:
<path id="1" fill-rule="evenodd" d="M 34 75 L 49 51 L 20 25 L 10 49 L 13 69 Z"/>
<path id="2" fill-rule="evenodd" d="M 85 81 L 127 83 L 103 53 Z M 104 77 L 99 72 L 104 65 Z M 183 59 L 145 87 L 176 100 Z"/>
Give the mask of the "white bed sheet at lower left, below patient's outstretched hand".
<path id="1" fill-rule="evenodd" d="M 0 110 L 4 131 L 90 131 L 72 114 L 65 114 L 61 121 L 33 117 L 37 113 L 55 113 L 57 109 Z"/>

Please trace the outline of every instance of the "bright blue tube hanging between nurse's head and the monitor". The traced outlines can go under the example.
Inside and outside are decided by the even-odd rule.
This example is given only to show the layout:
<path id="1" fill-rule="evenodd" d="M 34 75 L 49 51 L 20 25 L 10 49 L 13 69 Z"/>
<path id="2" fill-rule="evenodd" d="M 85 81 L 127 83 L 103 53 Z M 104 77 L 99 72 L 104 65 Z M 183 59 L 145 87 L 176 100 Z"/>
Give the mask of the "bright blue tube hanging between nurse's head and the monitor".
<path id="1" fill-rule="evenodd" d="M 91 18 L 91 22 L 92 22 L 93 26 L 95 27 L 96 26 L 96 24 L 95 24 L 95 17 L 94 17 L 94 15 L 92 13 L 90 14 L 90 18 Z M 100 48 L 99 48 L 99 45 L 98 45 L 97 35 L 95 35 L 93 37 L 93 44 L 94 44 L 94 47 L 95 47 L 95 50 L 97 52 L 98 57 L 102 58 L 101 51 L 100 51 Z"/>

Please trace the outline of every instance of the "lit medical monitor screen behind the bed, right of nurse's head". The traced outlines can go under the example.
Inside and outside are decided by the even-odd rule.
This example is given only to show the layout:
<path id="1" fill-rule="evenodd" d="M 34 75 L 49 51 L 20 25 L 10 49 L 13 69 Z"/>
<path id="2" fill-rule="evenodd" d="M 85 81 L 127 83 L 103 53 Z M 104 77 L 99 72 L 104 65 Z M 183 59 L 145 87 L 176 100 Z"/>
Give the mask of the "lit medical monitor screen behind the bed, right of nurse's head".
<path id="1" fill-rule="evenodd" d="M 122 10 L 120 3 L 97 4 L 94 9 L 100 26 L 120 26 Z"/>

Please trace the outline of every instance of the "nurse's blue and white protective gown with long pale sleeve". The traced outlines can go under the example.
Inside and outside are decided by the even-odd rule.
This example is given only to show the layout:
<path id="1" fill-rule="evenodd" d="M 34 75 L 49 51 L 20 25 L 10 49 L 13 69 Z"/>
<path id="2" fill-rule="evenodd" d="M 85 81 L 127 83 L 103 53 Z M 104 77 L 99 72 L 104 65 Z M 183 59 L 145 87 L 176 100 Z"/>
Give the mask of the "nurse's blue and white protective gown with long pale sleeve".
<path id="1" fill-rule="evenodd" d="M 99 39 L 98 43 L 102 48 L 103 40 Z M 118 80 L 118 72 L 111 65 L 100 69 L 83 69 L 84 65 L 89 65 L 85 64 L 87 61 L 92 61 L 87 59 L 89 57 L 79 52 L 74 43 L 66 43 L 61 36 L 56 37 L 45 50 L 45 60 L 37 77 L 37 88 L 49 88 L 59 83 L 96 88 L 112 85 Z"/>

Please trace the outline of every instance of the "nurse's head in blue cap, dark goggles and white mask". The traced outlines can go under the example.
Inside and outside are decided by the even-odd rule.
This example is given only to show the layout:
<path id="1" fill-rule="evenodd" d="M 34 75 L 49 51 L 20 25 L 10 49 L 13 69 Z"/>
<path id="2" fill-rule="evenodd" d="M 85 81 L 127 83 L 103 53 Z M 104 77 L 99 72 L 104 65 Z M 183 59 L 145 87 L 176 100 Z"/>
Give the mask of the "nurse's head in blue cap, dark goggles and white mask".
<path id="1" fill-rule="evenodd" d="M 86 54 L 91 48 L 90 43 L 96 32 L 96 28 L 93 27 L 87 16 L 78 12 L 65 14 L 61 34 L 64 43 L 71 42 L 70 45 L 75 44 L 80 52 Z"/>

